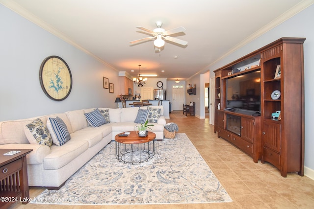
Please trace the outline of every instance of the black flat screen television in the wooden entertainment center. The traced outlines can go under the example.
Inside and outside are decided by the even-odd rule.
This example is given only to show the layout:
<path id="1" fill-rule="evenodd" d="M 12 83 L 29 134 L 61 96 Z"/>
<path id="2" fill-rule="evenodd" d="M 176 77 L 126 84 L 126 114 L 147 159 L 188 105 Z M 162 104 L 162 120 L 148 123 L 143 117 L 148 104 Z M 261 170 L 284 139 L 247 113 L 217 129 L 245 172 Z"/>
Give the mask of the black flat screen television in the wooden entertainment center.
<path id="1" fill-rule="evenodd" d="M 226 107 L 261 111 L 261 70 L 226 79 Z"/>

